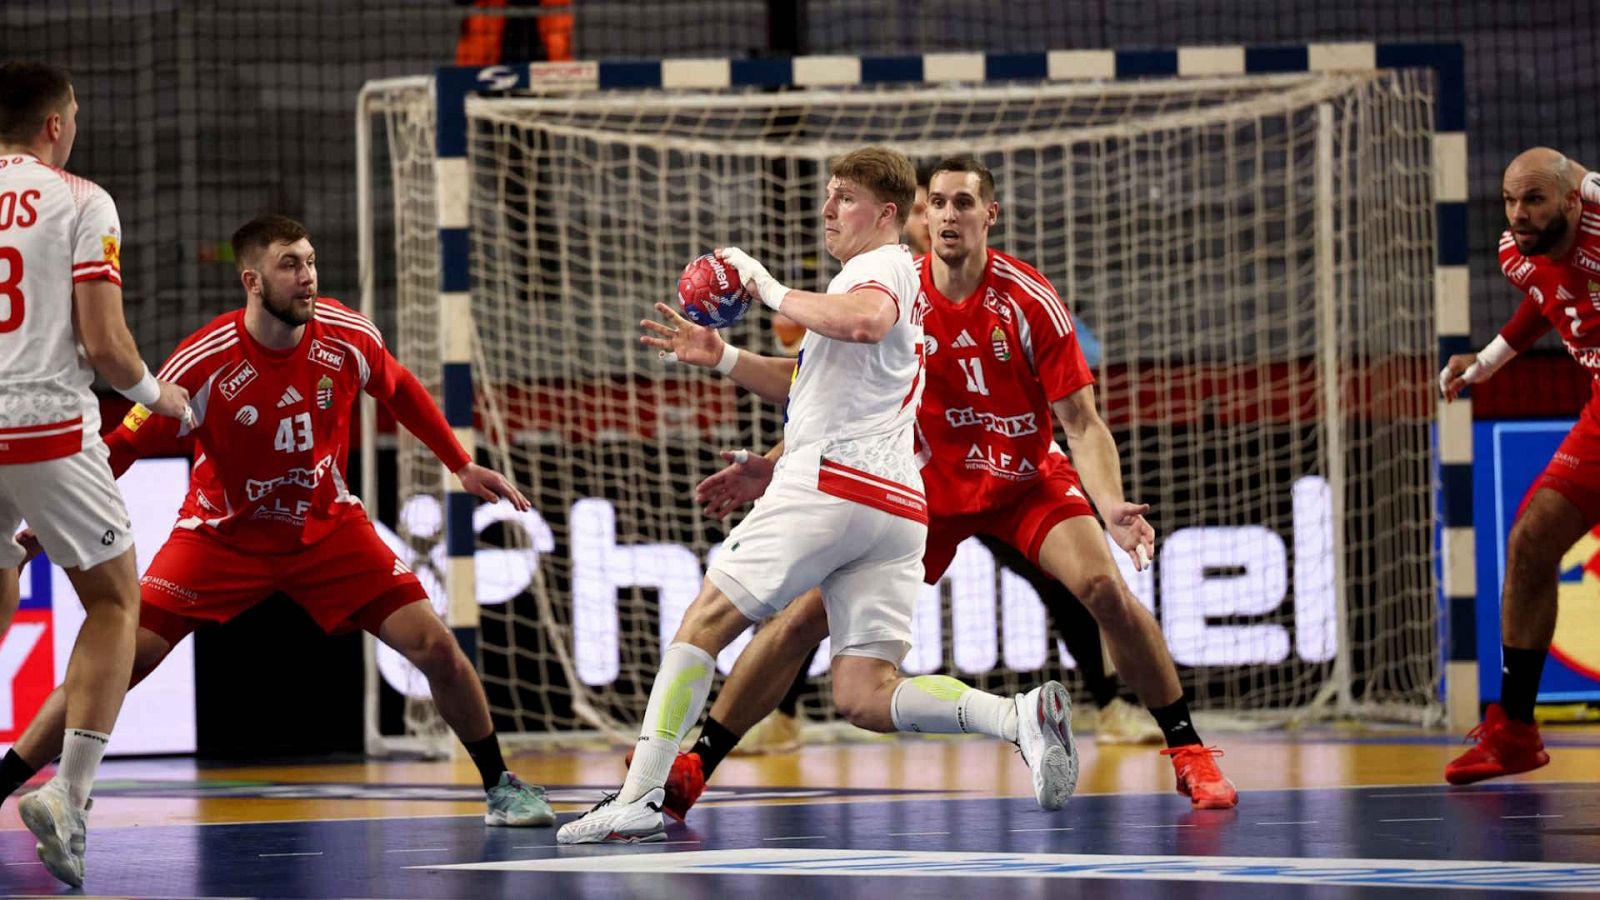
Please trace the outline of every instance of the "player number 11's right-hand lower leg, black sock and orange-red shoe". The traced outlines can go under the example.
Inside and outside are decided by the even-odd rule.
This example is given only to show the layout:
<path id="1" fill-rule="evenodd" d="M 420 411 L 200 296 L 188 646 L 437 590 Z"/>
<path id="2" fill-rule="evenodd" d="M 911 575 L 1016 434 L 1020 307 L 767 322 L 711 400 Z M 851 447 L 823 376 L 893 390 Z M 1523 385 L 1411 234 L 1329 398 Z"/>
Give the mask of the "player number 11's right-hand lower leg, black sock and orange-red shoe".
<path id="1" fill-rule="evenodd" d="M 1038 548 L 1038 567 L 1077 594 L 1099 623 L 1117 673 L 1166 738 L 1162 753 L 1173 757 L 1178 790 L 1197 807 L 1237 806 L 1238 793 L 1213 759 L 1221 751 L 1200 743 L 1162 628 L 1123 585 L 1099 522 L 1090 516 L 1058 522 Z"/>

